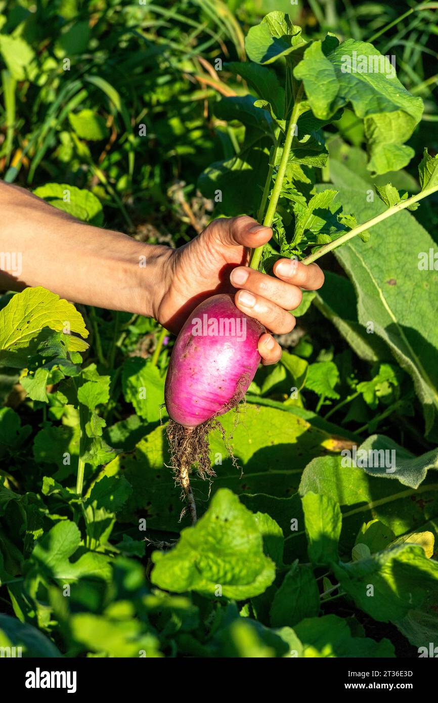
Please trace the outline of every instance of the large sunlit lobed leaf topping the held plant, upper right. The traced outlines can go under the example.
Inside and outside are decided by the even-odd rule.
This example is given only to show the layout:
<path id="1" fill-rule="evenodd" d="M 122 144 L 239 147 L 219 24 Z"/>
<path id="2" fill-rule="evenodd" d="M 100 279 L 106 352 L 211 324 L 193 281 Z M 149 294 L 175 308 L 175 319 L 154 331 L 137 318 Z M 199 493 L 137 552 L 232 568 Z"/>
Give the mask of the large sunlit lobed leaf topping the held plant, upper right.
<path id="1" fill-rule="evenodd" d="M 364 57 L 371 70 L 355 70 L 355 57 Z M 363 119 L 369 170 L 383 174 L 408 164 L 413 149 L 404 142 L 420 122 L 423 101 L 408 93 L 389 60 L 372 44 L 347 39 L 325 55 L 321 41 L 314 41 L 294 75 L 304 82 L 316 117 L 328 119 L 339 108 L 352 104 L 355 114 Z"/>

